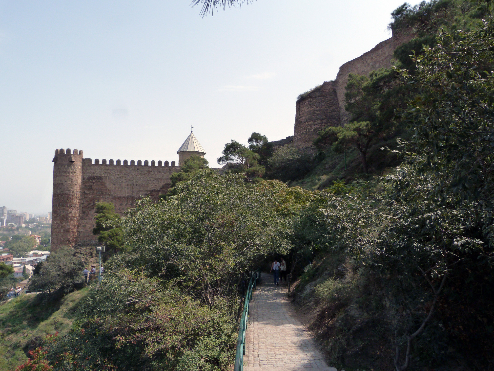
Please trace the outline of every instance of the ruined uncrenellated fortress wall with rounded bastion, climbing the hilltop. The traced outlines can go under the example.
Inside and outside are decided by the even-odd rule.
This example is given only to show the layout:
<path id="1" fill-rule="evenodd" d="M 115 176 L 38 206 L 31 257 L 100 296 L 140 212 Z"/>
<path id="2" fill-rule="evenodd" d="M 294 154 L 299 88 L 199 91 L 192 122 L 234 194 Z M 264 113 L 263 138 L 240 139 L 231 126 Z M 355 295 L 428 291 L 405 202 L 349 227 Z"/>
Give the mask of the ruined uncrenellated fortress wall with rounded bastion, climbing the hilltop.
<path id="1" fill-rule="evenodd" d="M 391 67 L 393 51 L 412 40 L 412 32 L 393 33 L 393 36 L 377 44 L 368 52 L 343 64 L 334 81 L 324 84 L 295 104 L 293 143 L 297 147 L 311 147 L 319 132 L 328 126 L 343 126 L 348 123 L 345 111 L 345 86 L 350 73 L 369 75 L 371 71 Z"/>

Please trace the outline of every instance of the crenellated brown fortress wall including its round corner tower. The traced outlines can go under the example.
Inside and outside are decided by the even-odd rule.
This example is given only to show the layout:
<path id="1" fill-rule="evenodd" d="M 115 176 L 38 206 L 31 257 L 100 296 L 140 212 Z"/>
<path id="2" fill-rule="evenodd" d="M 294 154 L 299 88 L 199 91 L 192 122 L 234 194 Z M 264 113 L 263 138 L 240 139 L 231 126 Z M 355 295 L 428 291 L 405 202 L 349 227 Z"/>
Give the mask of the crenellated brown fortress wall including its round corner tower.
<path id="1" fill-rule="evenodd" d="M 82 158 L 82 151 L 57 149 L 53 158 L 52 235 L 53 250 L 61 246 L 97 243 L 94 208 L 97 202 L 112 202 L 123 215 L 141 196 L 158 196 L 171 186 L 171 174 L 180 171 L 175 161 L 168 166 L 151 161 Z"/>

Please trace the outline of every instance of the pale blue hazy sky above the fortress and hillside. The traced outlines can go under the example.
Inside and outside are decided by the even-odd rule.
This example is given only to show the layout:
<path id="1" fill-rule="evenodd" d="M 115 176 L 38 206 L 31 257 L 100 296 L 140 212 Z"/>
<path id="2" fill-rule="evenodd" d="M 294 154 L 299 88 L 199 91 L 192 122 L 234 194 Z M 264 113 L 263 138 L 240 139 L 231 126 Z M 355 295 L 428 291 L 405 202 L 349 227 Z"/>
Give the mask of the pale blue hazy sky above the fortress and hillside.
<path id="1" fill-rule="evenodd" d="M 418 1 L 409 1 L 412 4 Z M 54 150 L 168 160 L 190 133 L 293 135 L 295 100 L 391 37 L 403 0 L 0 0 L 0 206 L 51 210 Z"/>

